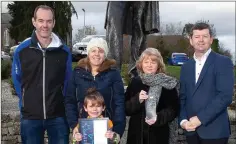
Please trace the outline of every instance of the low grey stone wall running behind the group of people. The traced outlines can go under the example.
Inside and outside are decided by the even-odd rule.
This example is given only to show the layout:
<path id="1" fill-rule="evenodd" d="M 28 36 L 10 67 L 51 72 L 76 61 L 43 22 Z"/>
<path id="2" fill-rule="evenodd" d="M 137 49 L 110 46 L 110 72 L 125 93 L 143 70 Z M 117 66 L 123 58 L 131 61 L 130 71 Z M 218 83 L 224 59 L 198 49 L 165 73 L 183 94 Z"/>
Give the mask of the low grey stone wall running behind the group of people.
<path id="1" fill-rule="evenodd" d="M 236 90 L 236 88 L 235 88 Z M 236 93 L 235 93 L 236 94 Z M 234 99 L 235 100 L 235 99 Z M 20 144 L 20 114 L 18 111 L 17 98 L 11 95 L 9 85 L 2 82 L 2 114 L 1 114 L 1 143 L 2 144 Z M 235 104 L 235 101 L 233 102 Z M 228 144 L 236 143 L 236 113 L 235 108 L 228 108 L 230 122 L 231 122 L 231 137 Z M 125 128 L 121 144 L 126 144 L 128 121 Z M 179 129 L 178 144 L 186 144 L 183 130 Z M 71 137 L 71 135 L 70 135 Z M 45 143 L 47 143 L 47 135 L 45 134 Z"/>

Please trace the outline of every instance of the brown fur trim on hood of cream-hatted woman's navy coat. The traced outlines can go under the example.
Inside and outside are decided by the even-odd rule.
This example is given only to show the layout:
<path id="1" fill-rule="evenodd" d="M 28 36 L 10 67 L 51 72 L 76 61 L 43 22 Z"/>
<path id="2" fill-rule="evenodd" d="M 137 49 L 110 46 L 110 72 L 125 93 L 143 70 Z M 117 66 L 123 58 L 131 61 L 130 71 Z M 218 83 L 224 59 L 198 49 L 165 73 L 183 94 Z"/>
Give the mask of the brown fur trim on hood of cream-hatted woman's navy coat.
<path id="1" fill-rule="evenodd" d="M 115 67 L 116 61 L 114 59 L 105 59 L 100 68 L 98 69 L 98 72 L 106 71 L 110 68 Z M 83 58 L 78 62 L 77 68 L 83 68 L 86 71 L 91 71 L 91 67 L 88 61 L 88 58 Z"/>

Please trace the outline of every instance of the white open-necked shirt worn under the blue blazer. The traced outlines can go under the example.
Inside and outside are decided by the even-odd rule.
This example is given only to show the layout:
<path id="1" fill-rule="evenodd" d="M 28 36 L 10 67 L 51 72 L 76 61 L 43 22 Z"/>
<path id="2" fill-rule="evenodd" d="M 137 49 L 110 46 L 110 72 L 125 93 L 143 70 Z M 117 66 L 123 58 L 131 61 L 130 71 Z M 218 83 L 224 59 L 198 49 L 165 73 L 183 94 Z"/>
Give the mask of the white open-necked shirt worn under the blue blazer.
<path id="1" fill-rule="evenodd" d="M 202 68 L 207 60 L 207 57 L 209 56 L 211 52 L 211 48 L 209 48 L 207 50 L 207 52 L 200 58 L 200 59 L 197 59 L 195 53 L 193 54 L 193 58 L 195 60 L 195 84 L 197 83 L 198 81 L 198 78 L 201 74 L 201 71 L 202 71 Z M 180 122 L 180 125 L 182 125 L 184 122 L 188 121 L 187 119 L 183 119 L 181 122 Z"/>

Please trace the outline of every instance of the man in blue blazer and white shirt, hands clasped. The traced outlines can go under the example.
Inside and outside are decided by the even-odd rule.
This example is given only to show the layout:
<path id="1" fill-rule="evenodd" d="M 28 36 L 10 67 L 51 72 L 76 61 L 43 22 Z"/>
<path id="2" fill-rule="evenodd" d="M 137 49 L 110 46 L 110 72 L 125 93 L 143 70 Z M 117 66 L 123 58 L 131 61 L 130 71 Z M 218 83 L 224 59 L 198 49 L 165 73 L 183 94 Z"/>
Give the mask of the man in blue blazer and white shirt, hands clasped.
<path id="1" fill-rule="evenodd" d="M 180 74 L 179 122 L 189 144 L 227 144 L 231 134 L 227 107 L 233 96 L 233 64 L 211 50 L 212 42 L 208 24 L 192 27 L 194 56 Z"/>

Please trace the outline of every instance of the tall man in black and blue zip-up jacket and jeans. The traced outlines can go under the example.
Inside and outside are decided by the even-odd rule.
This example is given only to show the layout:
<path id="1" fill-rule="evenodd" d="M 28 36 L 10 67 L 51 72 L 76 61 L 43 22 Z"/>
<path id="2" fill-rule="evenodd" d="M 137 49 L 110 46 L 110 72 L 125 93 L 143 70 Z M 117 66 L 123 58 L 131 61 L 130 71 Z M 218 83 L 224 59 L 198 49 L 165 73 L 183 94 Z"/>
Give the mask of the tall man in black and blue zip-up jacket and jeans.
<path id="1" fill-rule="evenodd" d="M 71 53 L 52 32 L 54 10 L 35 8 L 35 30 L 15 50 L 12 79 L 19 97 L 23 144 L 42 144 L 47 131 L 49 144 L 68 144 L 64 96 L 72 73 Z"/>

